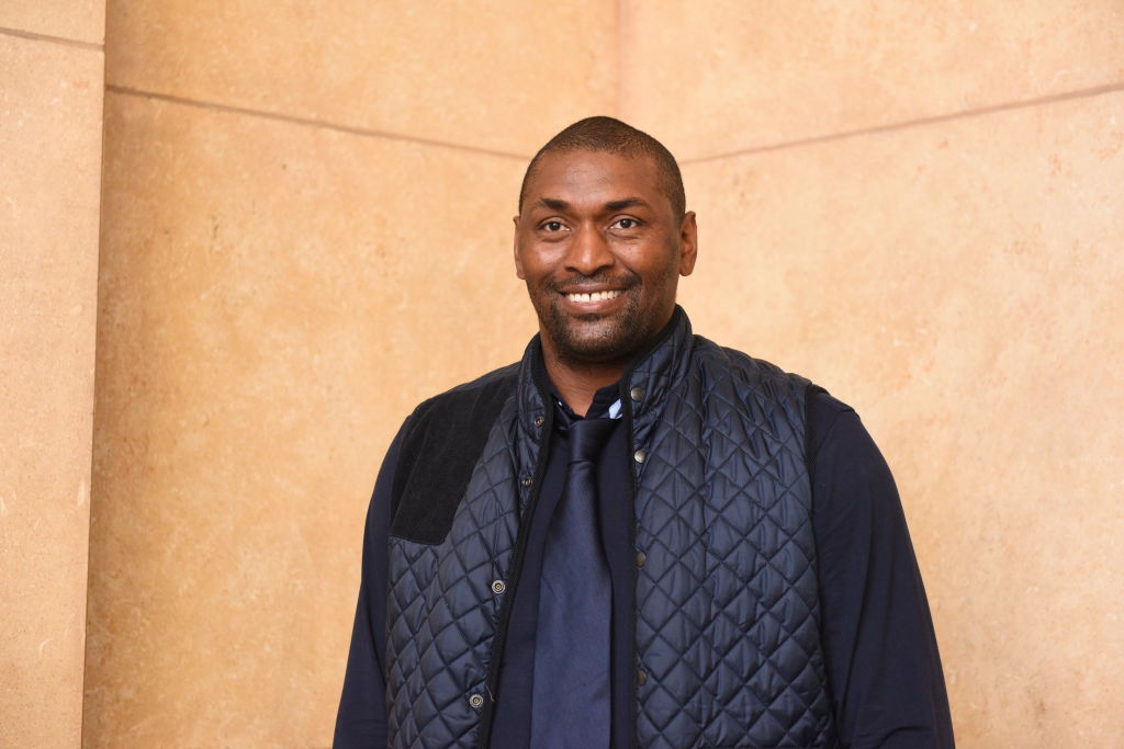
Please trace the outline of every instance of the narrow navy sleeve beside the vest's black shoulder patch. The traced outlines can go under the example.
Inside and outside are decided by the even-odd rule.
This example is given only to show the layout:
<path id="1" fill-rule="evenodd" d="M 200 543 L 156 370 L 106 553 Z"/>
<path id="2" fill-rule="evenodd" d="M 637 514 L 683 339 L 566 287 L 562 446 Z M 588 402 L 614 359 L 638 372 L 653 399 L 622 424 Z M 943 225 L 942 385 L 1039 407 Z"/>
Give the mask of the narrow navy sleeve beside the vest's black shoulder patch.
<path id="1" fill-rule="evenodd" d="M 391 487 L 401 432 L 391 442 L 366 511 L 363 566 L 352 629 L 347 673 L 336 713 L 335 749 L 387 746 L 387 542 L 390 536 Z"/>

